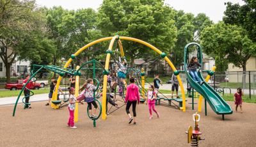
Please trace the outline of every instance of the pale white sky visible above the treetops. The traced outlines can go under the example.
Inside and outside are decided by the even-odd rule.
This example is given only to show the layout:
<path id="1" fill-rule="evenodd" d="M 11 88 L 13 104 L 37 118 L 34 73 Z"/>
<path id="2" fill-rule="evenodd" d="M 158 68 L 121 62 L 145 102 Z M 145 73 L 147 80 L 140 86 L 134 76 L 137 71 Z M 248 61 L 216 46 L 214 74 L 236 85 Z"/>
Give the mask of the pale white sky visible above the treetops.
<path id="1" fill-rule="evenodd" d="M 67 10 L 77 10 L 79 8 L 93 8 L 97 10 L 103 0 L 36 0 L 36 4 L 51 8 L 52 6 L 62 6 Z M 114 0 L 115 1 L 115 0 Z M 242 0 L 165 0 L 175 10 L 184 10 L 186 13 L 205 13 L 213 22 L 222 20 L 223 12 L 226 10 L 225 2 L 244 4 Z"/>

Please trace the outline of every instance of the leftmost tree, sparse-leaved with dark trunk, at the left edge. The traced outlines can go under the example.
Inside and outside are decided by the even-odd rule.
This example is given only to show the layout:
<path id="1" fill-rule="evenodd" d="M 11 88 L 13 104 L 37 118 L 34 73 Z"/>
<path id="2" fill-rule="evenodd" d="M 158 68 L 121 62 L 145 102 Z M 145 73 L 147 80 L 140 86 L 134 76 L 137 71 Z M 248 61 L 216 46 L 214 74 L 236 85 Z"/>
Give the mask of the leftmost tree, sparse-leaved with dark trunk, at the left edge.
<path id="1" fill-rule="evenodd" d="M 14 59 L 19 57 L 40 61 L 45 54 L 43 50 L 39 54 L 40 50 L 36 49 L 44 49 L 42 46 L 50 41 L 44 36 L 44 21 L 40 10 L 36 9 L 35 1 L 1 1 L 0 17 L 0 57 L 6 67 L 6 82 L 10 82 L 10 67 Z M 33 49 L 28 44 L 33 44 Z M 41 48 L 38 47 L 40 45 Z"/>

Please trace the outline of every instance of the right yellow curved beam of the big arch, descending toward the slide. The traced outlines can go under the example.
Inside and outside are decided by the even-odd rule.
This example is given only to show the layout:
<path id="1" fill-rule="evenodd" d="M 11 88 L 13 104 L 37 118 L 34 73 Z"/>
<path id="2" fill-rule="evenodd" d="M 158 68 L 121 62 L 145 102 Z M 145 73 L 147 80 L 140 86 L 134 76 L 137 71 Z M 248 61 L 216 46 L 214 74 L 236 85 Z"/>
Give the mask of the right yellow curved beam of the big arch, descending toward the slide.
<path id="1" fill-rule="evenodd" d="M 136 39 L 136 38 L 131 38 L 131 37 L 125 37 L 125 36 L 120 36 L 119 37 L 120 40 L 130 40 L 130 41 L 133 41 L 133 42 L 138 42 L 138 43 L 141 43 L 147 47 L 149 47 L 150 49 L 154 50 L 155 52 L 157 52 L 158 54 L 161 54 L 161 50 L 157 49 L 156 47 L 154 47 L 153 45 L 151 45 L 150 43 L 147 43 L 147 42 L 144 42 L 142 40 L 139 40 L 139 39 Z M 167 61 L 167 63 L 171 66 L 172 70 L 175 72 L 176 71 L 176 68 L 175 66 L 172 64 L 172 62 L 170 61 L 170 59 L 168 57 L 164 57 L 165 61 Z M 180 84 L 180 89 L 181 89 L 181 94 L 182 94 L 182 107 L 180 109 L 183 110 L 183 112 L 186 111 L 186 97 L 185 97 L 185 91 L 184 91 L 184 87 L 183 87 L 183 84 L 182 84 L 182 81 L 180 79 L 180 75 L 177 75 L 177 79 L 179 81 L 179 84 Z"/>

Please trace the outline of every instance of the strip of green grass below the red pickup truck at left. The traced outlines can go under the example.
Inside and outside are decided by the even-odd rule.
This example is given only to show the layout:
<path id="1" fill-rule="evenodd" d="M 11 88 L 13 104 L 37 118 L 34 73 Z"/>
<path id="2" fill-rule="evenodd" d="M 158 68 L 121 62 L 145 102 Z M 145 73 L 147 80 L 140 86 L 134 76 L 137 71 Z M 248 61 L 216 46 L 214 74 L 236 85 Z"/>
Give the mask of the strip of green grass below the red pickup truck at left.
<path id="1" fill-rule="evenodd" d="M 38 89 L 38 90 L 32 90 L 33 93 L 36 94 L 42 94 L 42 93 L 49 93 L 49 89 Z M 0 91 L 0 98 L 3 98 L 3 97 L 18 97 L 20 93 L 20 90 L 1 90 Z M 24 95 L 22 93 L 22 95 Z"/>

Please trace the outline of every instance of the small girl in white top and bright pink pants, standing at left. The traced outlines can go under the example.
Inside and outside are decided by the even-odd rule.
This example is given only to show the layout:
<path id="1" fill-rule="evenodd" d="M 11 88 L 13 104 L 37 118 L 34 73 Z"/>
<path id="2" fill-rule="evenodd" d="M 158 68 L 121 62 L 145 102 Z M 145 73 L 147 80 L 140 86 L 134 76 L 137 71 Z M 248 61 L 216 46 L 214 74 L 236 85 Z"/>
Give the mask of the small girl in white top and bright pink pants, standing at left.
<path id="1" fill-rule="evenodd" d="M 76 108 L 76 97 L 75 97 L 75 88 L 69 89 L 69 104 L 68 104 L 68 111 L 69 111 L 69 119 L 68 119 L 68 127 L 70 128 L 77 128 L 74 124 L 74 112 Z"/>

